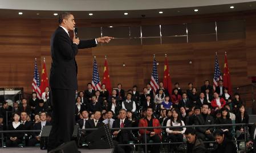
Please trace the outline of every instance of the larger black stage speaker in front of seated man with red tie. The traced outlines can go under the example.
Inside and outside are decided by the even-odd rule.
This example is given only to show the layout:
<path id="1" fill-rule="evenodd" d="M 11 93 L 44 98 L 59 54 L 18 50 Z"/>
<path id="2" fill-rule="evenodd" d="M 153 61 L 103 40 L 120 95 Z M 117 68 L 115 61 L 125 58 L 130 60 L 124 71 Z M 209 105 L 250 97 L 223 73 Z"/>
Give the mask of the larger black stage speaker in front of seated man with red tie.
<path id="1" fill-rule="evenodd" d="M 89 149 L 113 148 L 113 139 L 108 125 L 104 125 L 87 135 L 86 140 Z"/>

